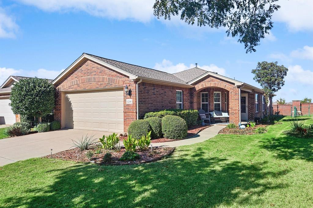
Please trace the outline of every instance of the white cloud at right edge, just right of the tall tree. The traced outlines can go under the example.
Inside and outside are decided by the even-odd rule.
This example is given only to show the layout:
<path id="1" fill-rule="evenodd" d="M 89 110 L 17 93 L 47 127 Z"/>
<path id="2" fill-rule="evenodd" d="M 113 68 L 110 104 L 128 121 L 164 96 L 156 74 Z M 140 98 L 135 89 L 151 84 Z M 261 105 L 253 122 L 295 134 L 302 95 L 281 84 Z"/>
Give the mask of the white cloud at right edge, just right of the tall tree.
<path id="1" fill-rule="evenodd" d="M 286 81 L 295 82 L 297 84 L 313 85 L 313 72 L 304 70 L 300 65 L 288 67 Z"/>

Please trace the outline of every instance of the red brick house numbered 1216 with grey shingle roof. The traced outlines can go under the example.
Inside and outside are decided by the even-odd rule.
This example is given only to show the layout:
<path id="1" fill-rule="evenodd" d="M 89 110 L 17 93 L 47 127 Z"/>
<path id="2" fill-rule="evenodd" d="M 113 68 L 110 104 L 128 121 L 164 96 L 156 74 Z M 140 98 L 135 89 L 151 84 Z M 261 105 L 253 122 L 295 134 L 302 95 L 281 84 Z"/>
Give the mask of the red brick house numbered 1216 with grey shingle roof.
<path id="1" fill-rule="evenodd" d="M 169 108 L 227 111 L 238 124 L 267 110 L 262 89 L 198 67 L 169 74 L 83 53 L 52 83 L 62 128 L 122 132 Z"/>

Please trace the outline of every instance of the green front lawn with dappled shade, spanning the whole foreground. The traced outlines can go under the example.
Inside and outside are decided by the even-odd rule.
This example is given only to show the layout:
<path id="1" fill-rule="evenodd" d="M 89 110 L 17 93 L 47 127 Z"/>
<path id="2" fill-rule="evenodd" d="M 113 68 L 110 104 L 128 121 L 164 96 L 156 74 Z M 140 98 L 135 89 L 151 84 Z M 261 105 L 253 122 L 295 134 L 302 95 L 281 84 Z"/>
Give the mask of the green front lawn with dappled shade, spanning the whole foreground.
<path id="1" fill-rule="evenodd" d="M 283 135 L 288 120 L 265 134 L 178 147 L 144 165 L 9 164 L 0 170 L 0 207 L 312 207 L 313 139 Z"/>

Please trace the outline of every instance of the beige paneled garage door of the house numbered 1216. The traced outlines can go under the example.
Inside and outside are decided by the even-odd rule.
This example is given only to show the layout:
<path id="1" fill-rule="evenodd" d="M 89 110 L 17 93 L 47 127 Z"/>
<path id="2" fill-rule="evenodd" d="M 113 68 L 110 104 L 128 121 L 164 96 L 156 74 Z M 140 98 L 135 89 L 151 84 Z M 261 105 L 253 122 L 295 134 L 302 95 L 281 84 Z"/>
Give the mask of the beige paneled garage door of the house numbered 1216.
<path id="1" fill-rule="evenodd" d="M 123 89 L 65 94 L 65 128 L 124 131 Z"/>

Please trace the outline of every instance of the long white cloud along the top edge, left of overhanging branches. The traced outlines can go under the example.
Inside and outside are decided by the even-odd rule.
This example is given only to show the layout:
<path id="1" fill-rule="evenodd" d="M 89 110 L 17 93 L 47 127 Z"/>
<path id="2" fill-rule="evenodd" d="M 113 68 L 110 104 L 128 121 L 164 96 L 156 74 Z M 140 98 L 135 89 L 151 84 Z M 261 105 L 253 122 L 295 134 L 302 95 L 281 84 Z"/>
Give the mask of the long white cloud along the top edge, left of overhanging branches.
<path id="1" fill-rule="evenodd" d="M 154 1 L 120 0 L 23 0 L 46 12 L 87 12 L 95 17 L 108 17 L 118 20 L 130 19 L 149 22 L 153 16 Z"/>

